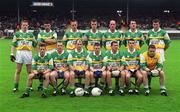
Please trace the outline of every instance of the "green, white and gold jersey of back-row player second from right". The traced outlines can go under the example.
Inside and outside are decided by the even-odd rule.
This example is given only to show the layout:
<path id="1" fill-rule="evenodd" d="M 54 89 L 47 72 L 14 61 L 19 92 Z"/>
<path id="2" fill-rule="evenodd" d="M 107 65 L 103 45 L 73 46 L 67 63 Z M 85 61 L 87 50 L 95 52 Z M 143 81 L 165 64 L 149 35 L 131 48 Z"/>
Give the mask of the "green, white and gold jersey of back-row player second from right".
<path id="1" fill-rule="evenodd" d="M 141 46 L 144 44 L 144 38 L 143 34 L 136 30 L 135 32 L 132 32 L 131 30 L 128 30 L 124 34 L 124 45 L 128 48 L 128 40 L 134 39 L 135 40 L 135 48 L 136 50 L 139 50 Z"/>

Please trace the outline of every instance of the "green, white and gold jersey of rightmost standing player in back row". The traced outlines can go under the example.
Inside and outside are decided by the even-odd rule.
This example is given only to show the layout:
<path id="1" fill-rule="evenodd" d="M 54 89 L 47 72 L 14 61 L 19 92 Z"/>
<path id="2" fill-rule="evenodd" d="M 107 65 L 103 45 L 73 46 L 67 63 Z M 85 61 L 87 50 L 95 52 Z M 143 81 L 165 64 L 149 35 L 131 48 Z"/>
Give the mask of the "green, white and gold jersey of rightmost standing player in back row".
<path id="1" fill-rule="evenodd" d="M 146 42 L 148 45 L 155 45 L 157 49 L 164 49 L 165 45 L 170 44 L 170 38 L 165 30 L 159 29 L 155 32 L 154 29 L 152 29 L 148 32 L 148 39 Z"/>

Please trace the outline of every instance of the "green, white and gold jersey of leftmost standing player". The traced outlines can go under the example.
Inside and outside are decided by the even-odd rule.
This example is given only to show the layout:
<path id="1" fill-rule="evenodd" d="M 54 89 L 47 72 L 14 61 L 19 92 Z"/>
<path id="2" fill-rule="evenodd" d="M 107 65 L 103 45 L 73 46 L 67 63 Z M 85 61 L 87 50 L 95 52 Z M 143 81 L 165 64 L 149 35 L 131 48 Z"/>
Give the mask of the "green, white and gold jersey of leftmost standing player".
<path id="1" fill-rule="evenodd" d="M 37 42 L 32 32 L 24 33 L 20 30 L 14 34 L 12 45 L 16 47 L 17 50 L 31 51 L 32 47 L 36 47 Z"/>

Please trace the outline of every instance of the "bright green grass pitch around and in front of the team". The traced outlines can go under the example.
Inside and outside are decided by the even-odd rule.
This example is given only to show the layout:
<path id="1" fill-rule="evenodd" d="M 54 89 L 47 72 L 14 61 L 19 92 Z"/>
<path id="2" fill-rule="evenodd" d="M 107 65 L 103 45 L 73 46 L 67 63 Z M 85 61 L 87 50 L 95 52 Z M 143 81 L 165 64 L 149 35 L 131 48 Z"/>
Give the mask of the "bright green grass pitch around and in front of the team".
<path id="1" fill-rule="evenodd" d="M 11 40 L 0 40 L 0 111 L 1 112 L 178 112 L 180 111 L 180 41 L 172 41 L 166 51 L 164 71 L 168 97 L 160 95 L 158 78 L 152 80 L 150 96 L 108 96 L 75 97 L 51 96 L 40 97 L 37 91 L 38 81 L 34 81 L 29 98 L 19 97 L 25 90 L 26 71 L 23 68 L 19 92 L 12 93 L 15 63 L 10 62 Z M 143 51 L 146 45 L 143 46 Z M 141 87 L 143 90 L 143 86 Z M 50 92 L 52 88 L 49 87 Z"/>

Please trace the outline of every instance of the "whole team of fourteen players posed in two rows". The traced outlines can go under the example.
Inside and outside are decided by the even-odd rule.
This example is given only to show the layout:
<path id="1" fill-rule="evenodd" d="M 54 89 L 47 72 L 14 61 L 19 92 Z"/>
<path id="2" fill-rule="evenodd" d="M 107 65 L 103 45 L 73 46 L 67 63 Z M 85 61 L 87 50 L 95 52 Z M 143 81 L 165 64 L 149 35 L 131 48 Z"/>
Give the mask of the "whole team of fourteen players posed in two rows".
<path id="1" fill-rule="evenodd" d="M 139 94 L 140 86 L 144 85 L 144 94 L 150 94 L 151 76 L 159 76 L 160 93 L 168 96 L 165 87 L 165 75 L 163 62 L 165 50 L 169 47 L 170 38 L 167 32 L 160 28 L 160 21 L 152 21 L 153 29 L 147 35 L 143 35 L 137 29 L 135 20 L 129 23 L 129 30 L 116 29 L 116 21 L 110 20 L 109 29 L 102 33 L 97 29 L 97 20 L 90 21 L 91 29 L 83 35 L 78 27 L 78 22 L 70 22 L 70 30 L 67 30 L 63 39 L 58 40 L 55 31 L 51 30 L 51 23 L 44 22 L 44 30 L 41 30 L 35 38 L 32 32 L 28 32 L 28 21 L 21 22 L 21 29 L 14 34 L 10 59 L 16 62 L 15 84 L 13 92 L 18 91 L 22 65 L 26 65 L 28 74 L 26 90 L 21 98 L 29 97 L 33 90 L 32 81 L 38 78 L 38 89 L 42 91 L 42 97 L 46 98 L 48 86 L 52 85 L 53 95 L 69 93 L 75 96 L 76 78 L 84 78 L 84 95 L 89 96 L 90 90 L 97 86 L 103 92 L 113 96 L 116 92 L 112 86 L 112 77 L 116 79 L 118 93 L 125 95 Z M 139 50 L 147 44 L 146 52 Z M 122 50 L 122 46 L 126 50 Z M 37 55 L 32 56 L 32 49 Z M 16 50 L 16 56 L 14 51 Z M 135 77 L 135 87 L 131 86 L 131 77 Z M 58 89 L 57 79 L 64 79 L 61 89 Z M 95 79 L 100 78 L 99 82 Z M 69 91 L 67 91 L 69 88 Z"/>

